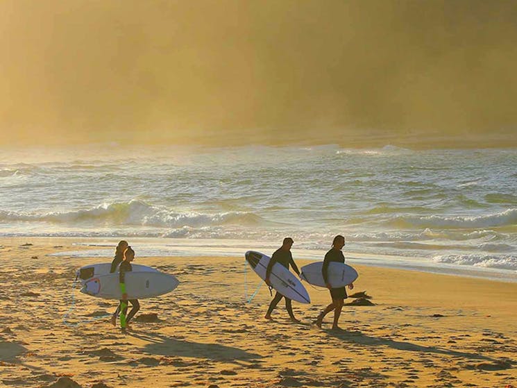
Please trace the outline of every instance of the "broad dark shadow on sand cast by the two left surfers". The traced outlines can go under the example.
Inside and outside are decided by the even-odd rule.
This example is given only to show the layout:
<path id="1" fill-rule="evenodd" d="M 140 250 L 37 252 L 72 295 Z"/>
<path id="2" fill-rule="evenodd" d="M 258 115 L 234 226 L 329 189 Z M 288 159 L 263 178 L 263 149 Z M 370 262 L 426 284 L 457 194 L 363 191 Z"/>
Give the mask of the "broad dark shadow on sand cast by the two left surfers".
<path id="1" fill-rule="evenodd" d="M 146 344 L 142 351 L 153 355 L 205 358 L 226 362 L 250 361 L 262 358 L 260 354 L 250 353 L 232 346 L 203 344 L 156 334 L 142 335 L 137 332 L 131 332 L 130 335 L 148 341 L 149 344 Z"/>

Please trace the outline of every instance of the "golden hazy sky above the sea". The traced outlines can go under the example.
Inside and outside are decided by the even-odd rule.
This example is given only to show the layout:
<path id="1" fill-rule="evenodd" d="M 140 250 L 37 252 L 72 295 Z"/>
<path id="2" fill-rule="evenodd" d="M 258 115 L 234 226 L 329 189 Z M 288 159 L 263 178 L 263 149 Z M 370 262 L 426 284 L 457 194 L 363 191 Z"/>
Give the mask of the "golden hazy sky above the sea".
<path id="1" fill-rule="evenodd" d="M 495 0 L 2 0 L 0 144 L 516 134 L 516 21 Z"/>

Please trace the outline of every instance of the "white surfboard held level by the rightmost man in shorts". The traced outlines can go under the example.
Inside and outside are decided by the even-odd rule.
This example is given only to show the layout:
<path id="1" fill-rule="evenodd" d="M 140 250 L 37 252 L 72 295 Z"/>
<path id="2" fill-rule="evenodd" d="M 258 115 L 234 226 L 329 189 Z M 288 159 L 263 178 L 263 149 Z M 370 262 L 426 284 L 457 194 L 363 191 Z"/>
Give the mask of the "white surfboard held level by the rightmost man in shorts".
<path id="1" fill-rule="evenodd" d="M 305 265 L 300 269 L 300 278 L 312 285 L 326 287 L 323 273 L 321 272 L 322 268 L 323 262 L 313 262 L 312 264 Z M 345 287 L 354 282 L 359 276 L 355 269 L 341 262 L 328 263 L 327 273 L 328 281 L 334 288 Z"/>

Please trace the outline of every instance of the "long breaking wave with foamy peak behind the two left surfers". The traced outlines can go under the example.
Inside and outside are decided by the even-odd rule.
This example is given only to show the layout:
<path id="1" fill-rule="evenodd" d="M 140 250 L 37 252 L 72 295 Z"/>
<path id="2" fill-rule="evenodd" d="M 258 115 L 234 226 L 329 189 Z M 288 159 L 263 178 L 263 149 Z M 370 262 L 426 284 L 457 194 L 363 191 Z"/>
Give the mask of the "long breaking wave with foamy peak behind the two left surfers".
<path id="1" fill-rule="evenodd" d="M 198 212 L 173 212 L 168 208 L 157 207 L 132 200 L 128 203 L 103 203 L 87 210 L 71 212 L 47 212 L 44 214 L 13 212 L 0 210 L 3 221 L 46 221 L 51 223 L 90 222 L 105 226 L 135 225 L 164 228 L 181 228 L 184 226 L 217 226 L 238 224 L 256 226 L 268 223 L 265 219 L 251 212 L 219 212 L 204 214 Z"/>

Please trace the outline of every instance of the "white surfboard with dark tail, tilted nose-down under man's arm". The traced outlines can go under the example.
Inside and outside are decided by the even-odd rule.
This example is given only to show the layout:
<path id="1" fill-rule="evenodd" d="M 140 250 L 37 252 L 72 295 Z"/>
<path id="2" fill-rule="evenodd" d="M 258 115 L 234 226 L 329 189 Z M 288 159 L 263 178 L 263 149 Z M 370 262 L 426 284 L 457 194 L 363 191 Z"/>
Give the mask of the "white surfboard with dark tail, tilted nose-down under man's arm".
<path id="1" fill-rule="evenodd" d="M 255 251 L 246 252 L 246 261 L 262 280 L 266 280 L 266 269 L 271 258 Z M 307 290 L 296 276 L 280 263 L 273 264 L 271 285 L 283 296 L 300 303 L 311 303 Z"/>

